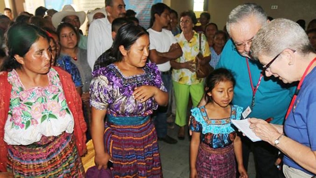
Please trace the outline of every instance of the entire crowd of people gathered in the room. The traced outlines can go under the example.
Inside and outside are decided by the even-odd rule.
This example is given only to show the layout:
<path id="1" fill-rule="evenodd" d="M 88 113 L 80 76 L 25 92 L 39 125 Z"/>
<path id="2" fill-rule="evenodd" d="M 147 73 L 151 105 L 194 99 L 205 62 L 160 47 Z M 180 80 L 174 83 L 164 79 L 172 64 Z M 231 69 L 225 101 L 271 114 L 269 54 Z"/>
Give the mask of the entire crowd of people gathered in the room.
<path id="1" fill-rule="evenodd" d="M 245 3 L 223 30 L 210 21 L 156 3 L 144 29 L 124 0 L 87 14 L 4 8 L 0 178 L 84 178 L 91 139 L 98 170 L 162 178 L 158 141 L 176 144 L 186 128 L 190 178 L 248 178 L 251 151 L 257 178 L 315 176 L 316 19 L 305 29 Z M 198 77 L 198 60 L 215 70 Z M 262 141 L 237 130 L 241 119 Z"/>

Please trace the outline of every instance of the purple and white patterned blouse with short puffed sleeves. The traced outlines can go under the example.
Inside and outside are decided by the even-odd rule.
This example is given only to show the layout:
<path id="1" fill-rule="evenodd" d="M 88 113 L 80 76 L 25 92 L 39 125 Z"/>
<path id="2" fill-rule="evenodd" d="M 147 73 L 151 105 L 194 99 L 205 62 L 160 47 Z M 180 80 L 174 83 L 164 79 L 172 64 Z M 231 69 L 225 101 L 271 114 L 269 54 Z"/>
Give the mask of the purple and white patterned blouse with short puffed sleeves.
<path id="1" fill-rule="evenodd" d="M 135 87 L 142 85 L 156 86 L 167 91 L 161 80 L 160 71 L 156 64 L 147 63 L 144 73 L 124 76 L 114 64 L 101 68 L 92 73 L 90 85 L 90 103 L 96 109 L 107 109 L 114 116 L 147 116 L 157 109 L 154 98 L 141 103 L 132 96 Z"/>

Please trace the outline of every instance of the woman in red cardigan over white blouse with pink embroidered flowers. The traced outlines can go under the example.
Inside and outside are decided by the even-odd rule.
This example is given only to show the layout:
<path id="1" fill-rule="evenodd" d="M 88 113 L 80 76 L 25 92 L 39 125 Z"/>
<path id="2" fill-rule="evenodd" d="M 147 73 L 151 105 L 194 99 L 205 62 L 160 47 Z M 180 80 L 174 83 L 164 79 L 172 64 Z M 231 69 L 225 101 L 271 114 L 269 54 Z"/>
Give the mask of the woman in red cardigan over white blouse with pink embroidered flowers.
<path id="1" fill-rule="evenodd" d="M 7 31 L 9 57 L 0 74 L 0 86 L 7 88 L 0 92 L 0 171 L 84 178 L 81 102 L 69 74 L 50 68 L 48 41 L 44 31 L 29 24 L 13 24 Z"/>

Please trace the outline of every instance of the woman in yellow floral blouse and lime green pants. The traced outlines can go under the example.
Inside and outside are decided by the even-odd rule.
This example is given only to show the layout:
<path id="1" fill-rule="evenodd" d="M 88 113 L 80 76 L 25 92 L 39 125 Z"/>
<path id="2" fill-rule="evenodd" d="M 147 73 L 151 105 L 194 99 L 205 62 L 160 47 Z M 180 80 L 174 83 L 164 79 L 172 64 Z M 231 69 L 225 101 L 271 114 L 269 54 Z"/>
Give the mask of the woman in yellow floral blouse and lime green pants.
<path id="1" fill-rule="evenodd" d="M 204 78 L 197 78 L 196 74 L 196 56 L 198 54 L 198 34 L 193 30 L 197 23 L 197 17 L 193 11 L 185 11 L 180 14 L 181 34 L 176 37 L 180 44 L 183 55 L 171 60 L 172 84 L 176 100 L 176 120 L 175 123 L 180 126 L 178 138 L 184 139 L 184 126 L 187 123 L 187 108 L 189 96 L 191 96 L 193 107 L 197 107 L 198 102 L 204 93 Z M 210 51 L 206 37 L 201 36 L 201 52 L 204 62 L 210 61 Z"/>

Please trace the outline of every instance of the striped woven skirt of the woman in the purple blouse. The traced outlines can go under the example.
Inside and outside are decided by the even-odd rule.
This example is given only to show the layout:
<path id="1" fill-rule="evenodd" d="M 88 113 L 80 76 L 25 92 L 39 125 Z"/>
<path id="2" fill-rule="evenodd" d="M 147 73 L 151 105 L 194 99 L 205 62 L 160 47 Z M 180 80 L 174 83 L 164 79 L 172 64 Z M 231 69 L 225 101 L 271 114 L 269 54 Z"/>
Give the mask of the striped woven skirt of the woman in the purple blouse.
<path id="1" fill-rule="evenodd" d="M 162 178 L 157 133 L 151 119 L 139 125 L 108 121 L 104 141 L 115 178 Z"/>

